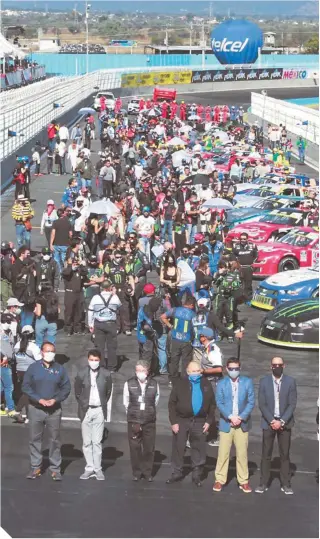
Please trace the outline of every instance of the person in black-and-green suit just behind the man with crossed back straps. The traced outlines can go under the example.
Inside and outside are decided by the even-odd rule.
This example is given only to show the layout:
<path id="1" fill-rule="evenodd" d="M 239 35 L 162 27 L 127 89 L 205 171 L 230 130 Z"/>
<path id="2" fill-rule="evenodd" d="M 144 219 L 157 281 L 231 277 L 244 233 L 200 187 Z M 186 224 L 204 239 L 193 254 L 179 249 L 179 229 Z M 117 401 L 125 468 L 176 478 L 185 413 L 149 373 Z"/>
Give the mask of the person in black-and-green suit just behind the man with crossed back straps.
<path id="1" fill-rule="evenodd" d="M 131 264 L 126 263 L 126 253 L 116 251 L 113 260 L 104 266 L 104 274 L 116 287 L 117 295 L 121 301 L 118 317 L 118 333 L 125 332 L 132 335 L 130 320 L 130 297 L 135 293 L 135 282 L 132 275 Z"/>

